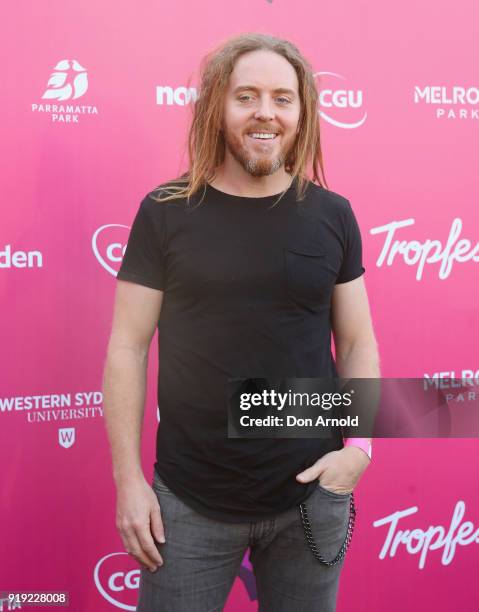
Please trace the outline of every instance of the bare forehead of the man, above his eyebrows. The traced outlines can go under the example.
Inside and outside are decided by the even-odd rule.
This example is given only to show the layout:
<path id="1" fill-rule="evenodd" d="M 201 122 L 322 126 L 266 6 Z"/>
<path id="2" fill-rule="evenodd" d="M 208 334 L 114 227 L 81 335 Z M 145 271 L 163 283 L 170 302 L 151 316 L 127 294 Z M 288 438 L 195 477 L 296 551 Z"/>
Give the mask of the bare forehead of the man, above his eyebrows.
<path id="1" fill-rule="evenodd" d="M 297 92 L 298 77 L 282 55 L 273 51 L 250 51 L 236 60 L 228 88 L 232 91 L 242 85 L 270 90 L 284 87 Z"/>

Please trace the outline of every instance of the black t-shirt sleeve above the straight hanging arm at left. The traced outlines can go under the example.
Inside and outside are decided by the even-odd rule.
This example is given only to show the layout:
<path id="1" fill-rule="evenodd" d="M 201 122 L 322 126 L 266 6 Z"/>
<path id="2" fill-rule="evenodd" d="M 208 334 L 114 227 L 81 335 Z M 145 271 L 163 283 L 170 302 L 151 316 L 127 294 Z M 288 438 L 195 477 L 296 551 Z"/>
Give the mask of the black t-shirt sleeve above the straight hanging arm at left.
<path id="1" fill-rule="evenodd" d="M 164 205 L 143 198 L 133 220 L 123 261 L 116 278 L 164 290 Z"/>

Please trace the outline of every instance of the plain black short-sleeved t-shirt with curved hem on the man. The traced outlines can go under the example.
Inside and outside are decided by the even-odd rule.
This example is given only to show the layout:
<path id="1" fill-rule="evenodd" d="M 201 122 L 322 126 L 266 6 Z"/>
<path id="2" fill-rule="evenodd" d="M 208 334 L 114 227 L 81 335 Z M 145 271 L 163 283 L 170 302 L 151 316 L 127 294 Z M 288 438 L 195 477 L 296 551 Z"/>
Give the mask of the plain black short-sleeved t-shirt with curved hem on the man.
<path id="1" fill-rule="evenodd" d="M 207 185 L 190 200 L 147 194 L 117 278 L 164 291 L 158 322 L 155 469 L 186 504 L 227 522 L 271 518 L 316 482 L 295 476 L 342 439 L 227 437 L 228 378 L 338 375 L 334 285 L 364 272 L 342 196 L 312 182 L 245 198 Z M 196 205 L 196 206 L 195 206 Z"/>

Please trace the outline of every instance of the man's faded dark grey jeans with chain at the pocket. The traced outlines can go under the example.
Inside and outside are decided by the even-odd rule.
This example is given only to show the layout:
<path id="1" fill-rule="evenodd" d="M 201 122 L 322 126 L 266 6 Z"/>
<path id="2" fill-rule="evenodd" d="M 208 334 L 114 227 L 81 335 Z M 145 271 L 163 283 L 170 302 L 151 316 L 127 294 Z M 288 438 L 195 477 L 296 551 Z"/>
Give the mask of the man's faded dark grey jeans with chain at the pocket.
<path id="1" fill-rule="evenodd" d="M 226 523 L 192 510 L 155 472 L 161 507 L 163 565 L 141 569 L 137 612 L 218 612 L 250 547 L 260 612 L 333 612 L 343 562 L 326 566 L 305 539 L 299 507 L 257 522 Z M 333 559 L 344 541 L 349 494 L 319 484 L 306 501 L 313 537 Z"/>

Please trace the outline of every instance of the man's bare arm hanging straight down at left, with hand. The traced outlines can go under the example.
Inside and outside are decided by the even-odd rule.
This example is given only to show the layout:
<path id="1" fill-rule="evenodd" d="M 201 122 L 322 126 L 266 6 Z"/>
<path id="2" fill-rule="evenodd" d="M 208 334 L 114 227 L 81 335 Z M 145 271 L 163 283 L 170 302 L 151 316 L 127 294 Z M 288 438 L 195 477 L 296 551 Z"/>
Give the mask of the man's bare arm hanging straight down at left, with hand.
<path id="1" fill-rule="evenodd" d="M 118 280 L 103 375 L 103 413 L 117 489 L 116 523 L 127 552 L 150 569 L 161 564 L 152 535 L 164 536 L 160 507 L 141 467 L 148 352 L 163 292 Z"/>

